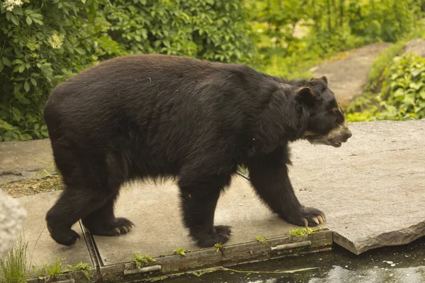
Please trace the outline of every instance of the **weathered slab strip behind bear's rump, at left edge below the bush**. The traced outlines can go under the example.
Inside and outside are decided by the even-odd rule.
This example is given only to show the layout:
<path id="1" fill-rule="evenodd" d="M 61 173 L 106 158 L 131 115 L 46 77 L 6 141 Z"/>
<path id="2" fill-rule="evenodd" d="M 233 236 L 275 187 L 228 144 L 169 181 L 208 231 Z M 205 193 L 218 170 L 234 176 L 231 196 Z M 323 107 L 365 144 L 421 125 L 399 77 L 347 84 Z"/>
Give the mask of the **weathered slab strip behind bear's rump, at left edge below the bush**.
<path id="1" fill-rule="evenodd" d="M 0 183 L 38 178 L 38 171 L 54 169 L 50 139 L 0 142 Z"/>

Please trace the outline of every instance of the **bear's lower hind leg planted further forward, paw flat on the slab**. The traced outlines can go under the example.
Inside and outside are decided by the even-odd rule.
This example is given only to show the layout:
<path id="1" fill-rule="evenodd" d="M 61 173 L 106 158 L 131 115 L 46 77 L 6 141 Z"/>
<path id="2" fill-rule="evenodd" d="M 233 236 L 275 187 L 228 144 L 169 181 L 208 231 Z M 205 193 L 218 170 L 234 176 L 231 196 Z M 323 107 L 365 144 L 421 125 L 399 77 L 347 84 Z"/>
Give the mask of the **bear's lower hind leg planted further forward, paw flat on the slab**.
<path id="1" fill-rule="evenodd" d="M 115 217 L 113 210 L 116 197 L 117 195 L 113 196 L 103 207 L 84 217 L 83 224 L 89 229 L 91 234 L 98 236 L 118 236 L 128 233 L 135 225 L 126 218 Z"/>

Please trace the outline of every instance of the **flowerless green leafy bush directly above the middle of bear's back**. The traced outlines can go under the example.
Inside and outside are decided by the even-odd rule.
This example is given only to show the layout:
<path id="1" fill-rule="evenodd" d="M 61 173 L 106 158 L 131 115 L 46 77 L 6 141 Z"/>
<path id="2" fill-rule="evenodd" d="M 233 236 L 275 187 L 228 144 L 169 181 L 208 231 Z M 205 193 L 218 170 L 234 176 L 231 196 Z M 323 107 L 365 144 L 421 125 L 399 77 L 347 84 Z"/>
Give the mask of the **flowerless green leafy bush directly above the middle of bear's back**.
<path id="1" fill-rule="evenodd" d="M 105 9 L 113 39 L 131 53 L 220 62 L 254 56 L 240 0 L 117 0 Z"/>

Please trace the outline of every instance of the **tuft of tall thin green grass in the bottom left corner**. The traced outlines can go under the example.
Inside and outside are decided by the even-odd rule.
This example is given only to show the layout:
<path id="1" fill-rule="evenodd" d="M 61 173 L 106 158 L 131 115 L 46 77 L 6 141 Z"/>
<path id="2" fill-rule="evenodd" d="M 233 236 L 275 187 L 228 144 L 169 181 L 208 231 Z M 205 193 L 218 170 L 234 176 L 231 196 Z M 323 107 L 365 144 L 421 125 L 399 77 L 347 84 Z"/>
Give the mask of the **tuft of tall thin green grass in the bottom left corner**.
<path id="1" fill-rule="evenodd" d="M 29 277 L 26 269 L 27 249 L 28 243 L 24 241 L 23 236 L 19 236 L 12 250 L 6 254 L 3 260 L 0 260 L 0 282 L 24 283 L 27 281 Z"/>

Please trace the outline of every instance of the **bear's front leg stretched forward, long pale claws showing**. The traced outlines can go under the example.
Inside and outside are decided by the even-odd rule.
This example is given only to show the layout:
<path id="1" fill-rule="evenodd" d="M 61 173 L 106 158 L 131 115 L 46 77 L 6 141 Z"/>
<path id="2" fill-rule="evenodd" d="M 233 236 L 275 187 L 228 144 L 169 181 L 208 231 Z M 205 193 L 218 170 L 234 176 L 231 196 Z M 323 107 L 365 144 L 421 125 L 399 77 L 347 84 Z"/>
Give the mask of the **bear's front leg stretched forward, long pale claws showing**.
<path id="1" fill-rule="evenodd" d="M 280 146 L 270 154 L 254 156 L 246 164 L 251 184 L 268 207 L 290 224 L 322 224 L 323 212 L 304 207 L 297 200 L 288 176 L 288 163 L 288 146 Z"/>

